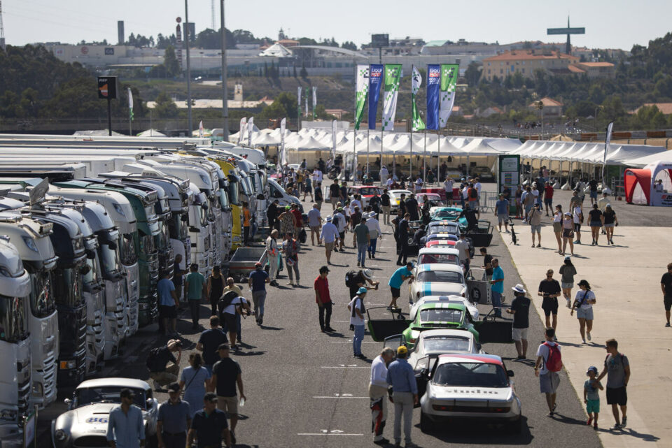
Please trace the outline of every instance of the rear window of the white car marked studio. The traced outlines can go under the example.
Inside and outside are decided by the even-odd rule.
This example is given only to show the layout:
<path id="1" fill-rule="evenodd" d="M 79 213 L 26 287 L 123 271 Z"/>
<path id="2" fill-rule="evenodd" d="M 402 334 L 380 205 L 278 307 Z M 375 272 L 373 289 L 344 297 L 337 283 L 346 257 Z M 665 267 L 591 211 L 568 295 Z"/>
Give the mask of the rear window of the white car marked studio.
<path id="1" fill-rule="evenodd" d="M 437 368 L 432 380 L 439 386 L 507 387 L 502 366 L 491 363 L 446 363 Z"/>

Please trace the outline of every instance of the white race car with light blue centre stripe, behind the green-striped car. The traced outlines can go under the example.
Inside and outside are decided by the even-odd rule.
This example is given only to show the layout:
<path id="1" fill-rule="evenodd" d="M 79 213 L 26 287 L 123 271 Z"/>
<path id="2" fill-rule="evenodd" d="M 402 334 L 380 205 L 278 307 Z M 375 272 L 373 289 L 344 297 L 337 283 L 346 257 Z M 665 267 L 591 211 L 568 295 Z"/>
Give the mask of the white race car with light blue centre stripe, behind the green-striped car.
<path id="1" fill-rule="evenodd" d="M 461 266 L 456 264 L 423 264 L 414 269 L 415 280 L 409 285 L 408 300 L 413 303 L 423 296 L 467 297 L 467 284 Z"/>

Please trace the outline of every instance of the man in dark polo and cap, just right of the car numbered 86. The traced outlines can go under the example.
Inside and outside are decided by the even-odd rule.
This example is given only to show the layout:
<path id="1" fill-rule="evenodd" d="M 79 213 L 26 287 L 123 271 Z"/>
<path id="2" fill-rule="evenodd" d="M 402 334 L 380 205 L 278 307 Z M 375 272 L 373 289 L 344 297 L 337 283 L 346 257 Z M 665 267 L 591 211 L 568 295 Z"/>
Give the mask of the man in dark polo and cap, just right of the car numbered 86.
<path id="1" fill-rule="evenodd" d="M 205 391 L 203 391 L 205 393 Z M 200 407 L 196 403 L 196 407 Z M 161 403 L 156 418 L 156 438 L 160 448 L 183 448 L 191 427 L 190 404 L 180 399 L 180 385 L 168 386 L 168 400 Z"/>

